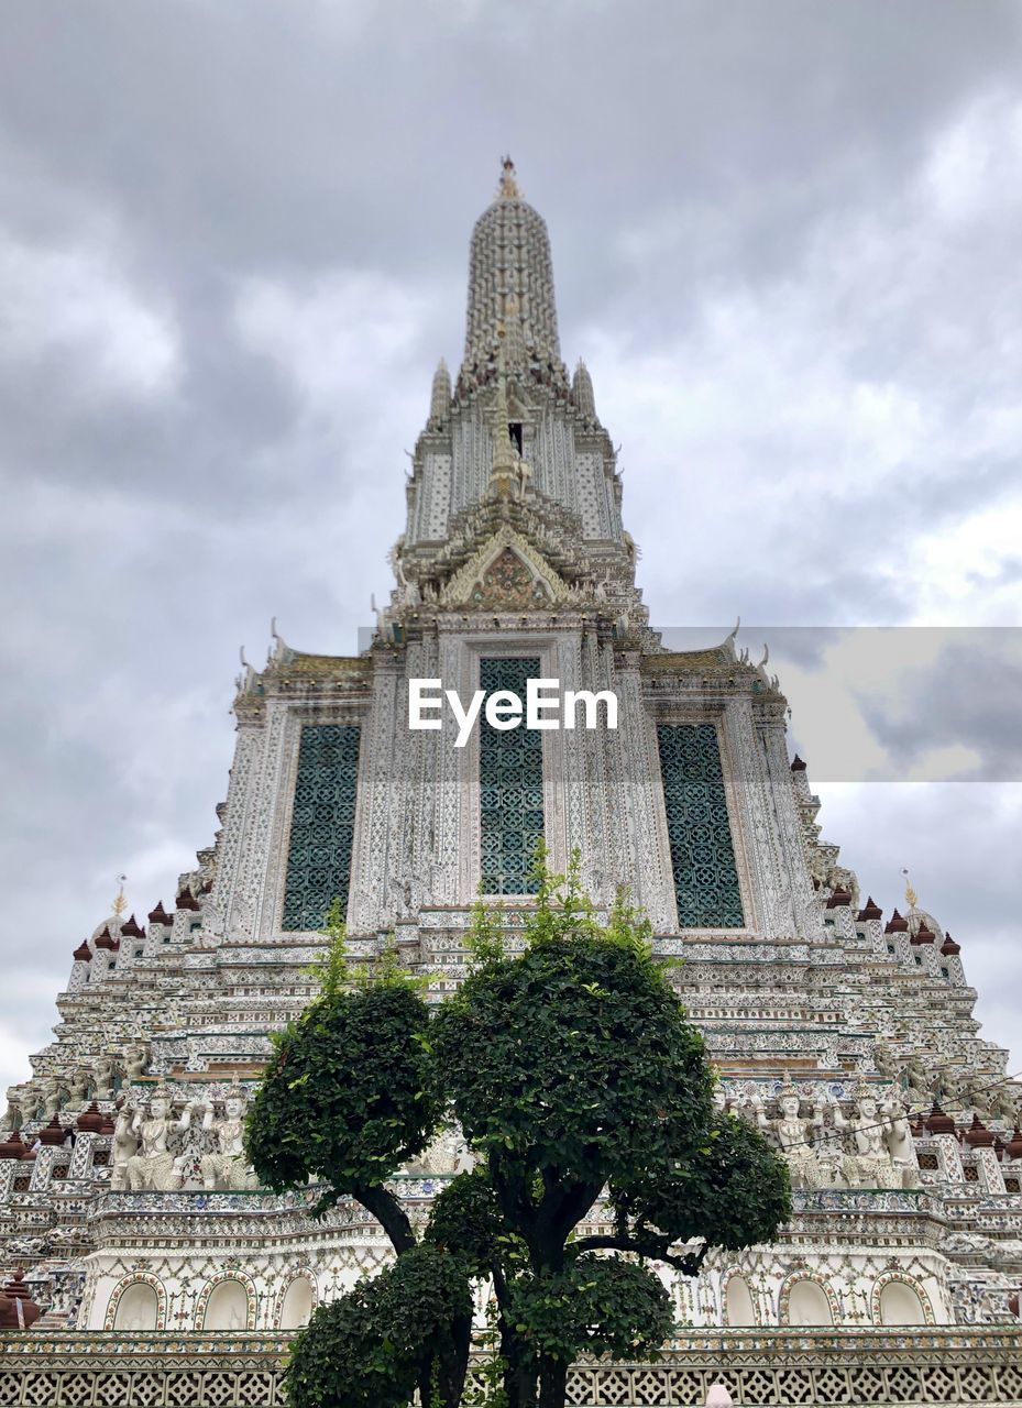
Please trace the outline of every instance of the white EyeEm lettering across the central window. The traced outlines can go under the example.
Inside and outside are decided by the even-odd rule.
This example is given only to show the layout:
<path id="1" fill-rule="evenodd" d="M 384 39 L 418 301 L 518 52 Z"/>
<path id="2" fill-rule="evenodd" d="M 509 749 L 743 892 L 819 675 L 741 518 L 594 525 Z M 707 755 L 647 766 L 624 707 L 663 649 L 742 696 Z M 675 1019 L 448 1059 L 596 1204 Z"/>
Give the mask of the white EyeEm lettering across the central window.
<path id="1" fill-rule="evenodd" d="M 618 727 L 618 696 L 614 690 L 564 690 L 560 680 L 526 680 L 525 703 L 514 690 L 476 690 L 467 707 L 462 704 L 458 690 L 445 690 L 443 680 L 408 680 L 408 728 L 443 728 L 443 703 L 446 700 L 455 722 L 458 738 L 455 748 L 465 748 L 476 727 L 483 700 L 486 700 L 486 722 L 501 732 L 518 728 L 574 728 L 577 710 L 581 704 L 584 728 L 600 728 L 600 705 L 605 711 L 605 728 Z"/>

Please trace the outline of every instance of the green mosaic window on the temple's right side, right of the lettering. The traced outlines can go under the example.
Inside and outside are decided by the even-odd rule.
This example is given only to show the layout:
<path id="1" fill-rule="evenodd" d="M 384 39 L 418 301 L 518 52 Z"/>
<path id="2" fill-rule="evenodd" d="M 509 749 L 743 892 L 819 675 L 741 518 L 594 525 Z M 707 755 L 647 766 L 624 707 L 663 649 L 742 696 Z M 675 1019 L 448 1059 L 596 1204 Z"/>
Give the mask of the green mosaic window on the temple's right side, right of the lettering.
<path id="1" fill-rule="evenodd" d="M 683 929 L 740 929 L 742 894 L 712 724 L 660 724 L 663 800 Z"/>

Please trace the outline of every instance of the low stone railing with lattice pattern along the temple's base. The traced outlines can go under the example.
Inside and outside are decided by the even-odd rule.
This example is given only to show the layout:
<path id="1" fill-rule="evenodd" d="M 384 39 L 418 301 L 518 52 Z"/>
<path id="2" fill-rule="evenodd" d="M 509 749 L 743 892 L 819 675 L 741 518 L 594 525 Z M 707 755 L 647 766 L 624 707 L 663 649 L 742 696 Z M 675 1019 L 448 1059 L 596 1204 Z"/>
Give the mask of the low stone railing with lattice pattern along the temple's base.
<path id="1" fill-rule="evenodd" d="M 277 1408 L 290 1338 L 4 1333 L 0 1408 Z M 693 1332 L 655 1364 L 577 1364 L 569 1402 L 701 1405 L 717 1381 L 736 1405 L 759 1408 L 1019 1408 L 1022 1326 Z"/>

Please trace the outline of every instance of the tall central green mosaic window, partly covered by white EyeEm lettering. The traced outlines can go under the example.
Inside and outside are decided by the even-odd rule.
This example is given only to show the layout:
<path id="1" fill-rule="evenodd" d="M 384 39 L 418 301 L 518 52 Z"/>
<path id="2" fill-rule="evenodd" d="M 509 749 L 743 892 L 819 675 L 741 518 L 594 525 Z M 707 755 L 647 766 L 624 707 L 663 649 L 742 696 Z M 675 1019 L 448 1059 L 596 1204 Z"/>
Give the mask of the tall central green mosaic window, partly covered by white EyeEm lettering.
<path id="1" fill-rule="evenodd" d="M 525 681 L 539 677 L 539 660 L 479 662 L 479 687 L 514 690 L 525 700 Z M 543 735 L 539 729 L 501 731 L 479 724 L 479 804 L 481 874 L 487 894 L 532 894 L 529 874 L 536 841 L 543 834 Z"/>

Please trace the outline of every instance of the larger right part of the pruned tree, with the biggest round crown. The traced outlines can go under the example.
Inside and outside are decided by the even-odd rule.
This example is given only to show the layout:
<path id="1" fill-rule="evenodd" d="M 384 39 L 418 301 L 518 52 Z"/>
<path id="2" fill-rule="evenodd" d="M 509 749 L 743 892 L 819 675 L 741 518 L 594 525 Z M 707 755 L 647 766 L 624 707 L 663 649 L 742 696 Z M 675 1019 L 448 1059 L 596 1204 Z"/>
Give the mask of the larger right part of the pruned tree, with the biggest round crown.
<path id="1" fill-rule="evenodd" d="M 790 1212 L 783 1160 L 714 1104 L 646 921 L 619 897 L 600 925 L 577 856 L 553 876 L 541 853 L 536 879 L 524 953 L 494 948 L 487 915 L 431 1031 L 503 1222 L 491 1273 L 510 1408 L 563 1408 L 583 1350 L 656 1350 L 670 1315 L 648 1260 L 694 1276 L 711 1246 L 769 1240 Z M 604 1188 L 614 1231 L 579 1236 Z"/>

